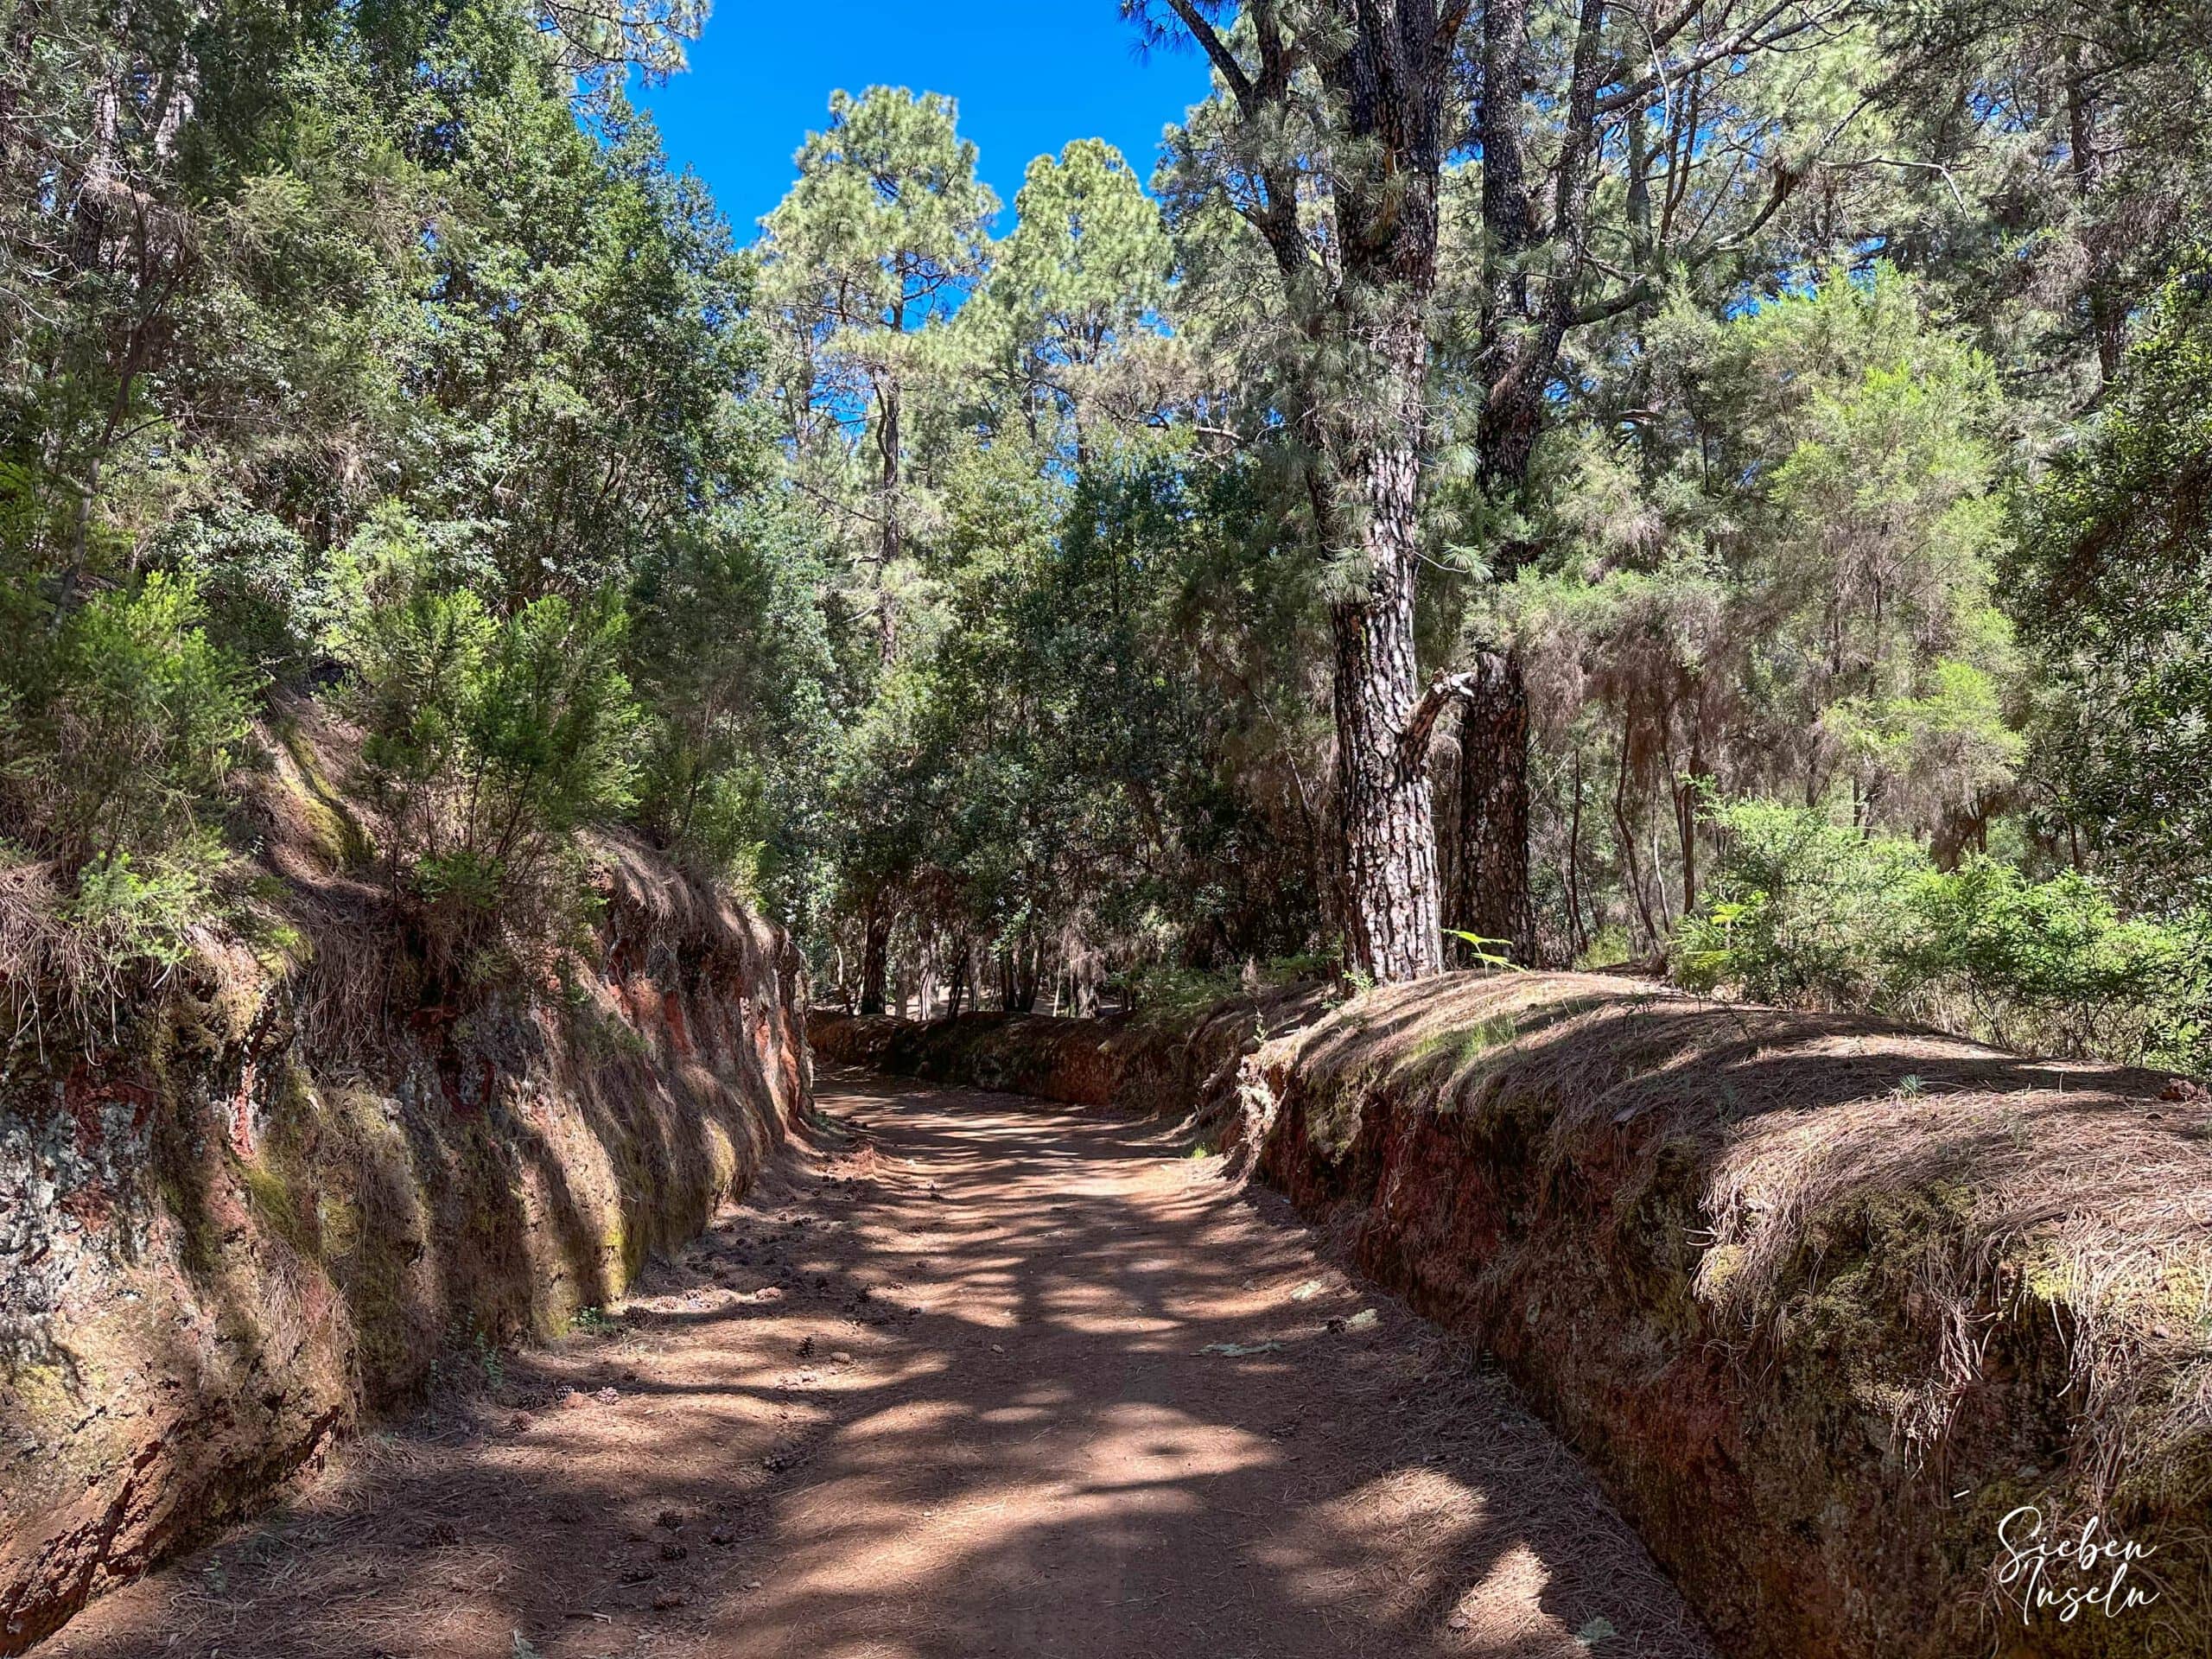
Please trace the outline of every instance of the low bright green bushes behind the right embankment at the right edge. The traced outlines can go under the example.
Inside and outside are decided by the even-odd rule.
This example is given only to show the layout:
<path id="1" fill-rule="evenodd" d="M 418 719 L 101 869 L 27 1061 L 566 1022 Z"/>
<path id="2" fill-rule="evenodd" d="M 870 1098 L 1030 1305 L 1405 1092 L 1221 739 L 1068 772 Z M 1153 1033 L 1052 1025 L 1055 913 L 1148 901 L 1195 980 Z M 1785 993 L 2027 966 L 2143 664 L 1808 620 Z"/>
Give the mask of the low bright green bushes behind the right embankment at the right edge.
<path id="1" fill-rule="evenodd" d="M 2090 876 L 2031 880 L 1827 812 L 1712 812 L 1721 863 L 1674 975 L 1759 1002 L 1887 1013 L 2011 1048 L 2212 1064 L 2212 920 L 2124 916 Z"/>

